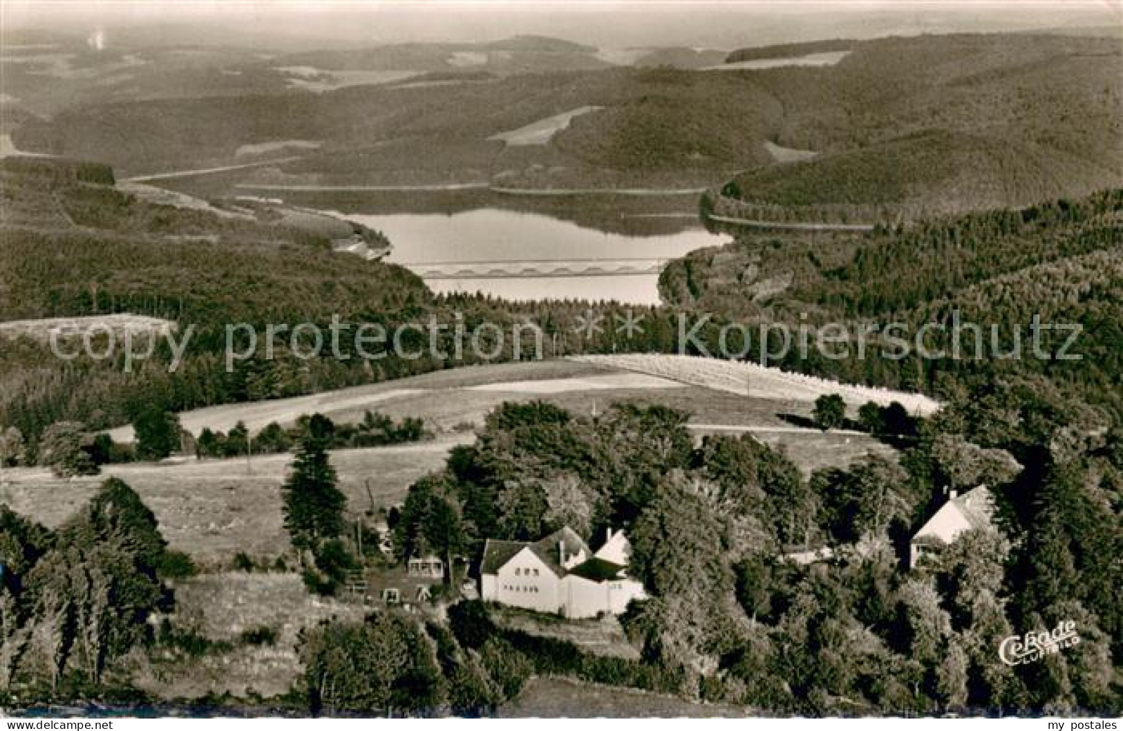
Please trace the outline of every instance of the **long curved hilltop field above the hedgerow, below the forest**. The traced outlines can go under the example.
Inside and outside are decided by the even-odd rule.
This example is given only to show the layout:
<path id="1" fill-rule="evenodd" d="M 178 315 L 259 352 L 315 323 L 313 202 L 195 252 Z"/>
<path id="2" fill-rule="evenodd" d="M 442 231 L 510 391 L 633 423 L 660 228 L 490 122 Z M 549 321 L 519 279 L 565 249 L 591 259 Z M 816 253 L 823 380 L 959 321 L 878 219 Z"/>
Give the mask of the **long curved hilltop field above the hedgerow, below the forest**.
<path id="1" fill-rule="evenodd" d="M 371 409 L 393 419 L 422 419 L 444 442 L 466 439 L 465 433 L 481 427 L 487 413 L 504 401 L 540 399 L 577 414 L 603 412 L 615 401 L 634 401 L 688 412 L 691 428 L 699 438 L 707 433 L 750 432 L 769 446 L 785 449 L 805 474 L 849 464 L 867 453 L 893 454 L 892 448 L 868 435 L 823 433 L 793 426 L 792 417 L 811 414 L 813 398 L 797 389 L 788 393 L 783 382 L 772 382 L 769 389 L 758 389 L 755 382 L 752 393 L 746 394 L 720 380 L 692 384 L 681 375 L 673 377 L 679 380 L 622 371 L 600 358 L 496 364 L 309 396 L 210 406 L 184 412 L 180 420 L 184 429 L 195 435 L 203 427 L 228 431 L 238 421 L 254 432 L 271 421 L 285 426 L 302 414 L 316 412 L 340 423 L 357 422 Z M 833 385 L 827 387 L 827 392 L 834 390 Z M 731 398 L 731 393 L 739 398 Z M 110 433 L 115 440 L 128 441 L 133 428 L 121 427 Z"/>

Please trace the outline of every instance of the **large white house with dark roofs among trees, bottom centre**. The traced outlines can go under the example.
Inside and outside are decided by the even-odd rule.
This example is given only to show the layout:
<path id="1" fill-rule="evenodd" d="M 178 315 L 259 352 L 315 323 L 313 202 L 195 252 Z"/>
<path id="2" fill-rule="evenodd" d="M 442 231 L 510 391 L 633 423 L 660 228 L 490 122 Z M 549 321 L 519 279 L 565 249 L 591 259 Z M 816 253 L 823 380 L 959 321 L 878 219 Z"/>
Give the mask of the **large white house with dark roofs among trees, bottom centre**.
<path id="1" fill-rule="evenodd" d="M 484 601 L 572 619 L 620 614 L 632 600 L 647 598 L 643 584 L 628 576 L 631 545 L 613 533 L 596 554 L 570 528 L 529 543 L 487 540 L 480 567 Z"/>

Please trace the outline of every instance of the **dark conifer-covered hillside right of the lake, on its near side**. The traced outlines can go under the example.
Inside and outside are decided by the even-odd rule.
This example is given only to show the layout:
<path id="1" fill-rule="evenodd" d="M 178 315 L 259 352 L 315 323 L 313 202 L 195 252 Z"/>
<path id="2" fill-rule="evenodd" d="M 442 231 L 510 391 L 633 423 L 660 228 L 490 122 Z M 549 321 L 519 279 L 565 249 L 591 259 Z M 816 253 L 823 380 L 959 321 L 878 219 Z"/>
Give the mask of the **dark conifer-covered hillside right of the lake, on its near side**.
<path id="1" fill-rule="evenodd" d="M 926 322 L 951 328 L 958 318 L 980 325 L 988 348 L 990 328 L 997 326 L 1001 351 L 1013 347 L 1015 329 L 1029 347 L 1034 314 L 1044 323 L 1080 325 L 1078 362 L 975 358 L 971 340 L 959 360 L 812 358 L 784 365 L 930 392 L 944 375 L 1044 375 L 1088 402 L 1123 410 L 1120 189 L 869 235 L 741 234 L 730 246 L 694 252 L 669 265 L 660 289 L 673 307 L 737 322 L 901 322 L 915 332 Z M 930 348 L 949 345 L 948 337 L 933 331 Z M 1059 346 L 1057 333 L 1043 337 Z"/>

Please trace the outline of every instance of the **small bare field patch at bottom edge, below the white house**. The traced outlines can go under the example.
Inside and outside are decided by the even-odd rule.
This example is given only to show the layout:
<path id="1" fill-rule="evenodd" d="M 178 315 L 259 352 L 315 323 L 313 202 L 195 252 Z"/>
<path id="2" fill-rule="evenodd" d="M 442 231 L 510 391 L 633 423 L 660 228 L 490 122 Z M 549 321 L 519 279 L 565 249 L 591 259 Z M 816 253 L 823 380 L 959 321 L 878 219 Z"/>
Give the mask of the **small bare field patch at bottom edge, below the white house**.
<path id="1" fill-rule="evenodd" d="M 519 697 L 500 709 L 499 715 L 506 719 L 742 719 L 749 716 L 749 710 L 691 703 L 661 693 L 592 685 L 569 678 L 535 677 L 527 683 Z"/>

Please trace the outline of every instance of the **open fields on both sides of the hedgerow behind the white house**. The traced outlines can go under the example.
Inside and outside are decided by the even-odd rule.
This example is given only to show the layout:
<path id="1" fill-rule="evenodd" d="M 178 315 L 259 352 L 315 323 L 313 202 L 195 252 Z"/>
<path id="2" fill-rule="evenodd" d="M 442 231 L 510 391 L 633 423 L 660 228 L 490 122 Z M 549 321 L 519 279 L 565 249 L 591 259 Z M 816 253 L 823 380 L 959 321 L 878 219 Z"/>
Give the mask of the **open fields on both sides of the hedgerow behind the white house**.
<path id="1" fill-rule="evenodd" d="M 682 374 L 673 375 L 683 378 Z M 785 382 L 777 380 L 767 390 L 754 386 L 752 393 L 745 395 L 720 380 L 687 385 L 685 378 L 678 383 L 661 375 L 632 373 L 604 358 L 542 360 L 441 371 L 299 399 L 228 404 L 188 412 L 181 419 L 190 430 L 203 426 L 226 430 L 237 421 L 259 429 L 268 421 L 286 423 L 316 411 L 339 422 L 357 421 L 369 408 L 394 419 L 422 419 L 436 432 L 436 440 L 332 453 L 340 488 L 355 513 L 399 504 L 413 482 L 444 467 L 453 446 L 471 442 L 472 429 L 504 401 L 541 399 L 577 414 L 603 413 L 615 401 L 663 404 L 690 412 L 699 438 L 750 432 L 784 449 L 804 474 L 844 466 L 869 453 L 892 456 L 891 447 L 868 435 L 823 433 L 793 426 L 789 418 L 805 418 L 810 404 L 798 389 L 787 394 L 785 387 Z M 122 433 L 118 430 L 115 437 Z M 156 514 L 172 548 L 212 567 L 229 566 L 239 551 L 272 560 L 289 546 L 280 486 L 291 458 L 284 454 L 249 460 L 110 465 L 100 476 L 73 479 L 54 477 L 43 468 L 4 469 L 0 474 L 0 503 L 53 527 L 79 511 L 102 479 L 120 477 Z"/>

